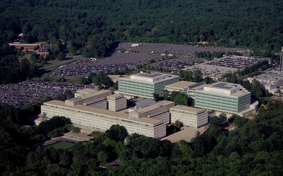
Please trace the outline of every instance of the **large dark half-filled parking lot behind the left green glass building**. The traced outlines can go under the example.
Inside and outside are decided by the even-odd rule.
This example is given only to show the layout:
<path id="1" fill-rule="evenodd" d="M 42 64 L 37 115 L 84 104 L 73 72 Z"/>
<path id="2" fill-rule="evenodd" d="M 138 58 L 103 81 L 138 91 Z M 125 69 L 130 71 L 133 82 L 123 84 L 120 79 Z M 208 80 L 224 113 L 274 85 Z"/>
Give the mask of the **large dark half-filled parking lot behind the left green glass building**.
<path id="1" fill-rule="evenodd" d="M 91 72 L 99 73 L 107 70 L 113 71 L 116 68 L 122 69 L 125 66 L 129 68 L 136 65 L 148 62 L 150 59 L 160 59 L 160 55 L 148 55 L 138 53 L 119 53 L 114 52 L 102 60 L 86 60 L 81 59 L 77 62 L 69 64 L 65 68 L 57 69 L 49 74 L 64 75 L 72 77 L 86 76 Z"/>

